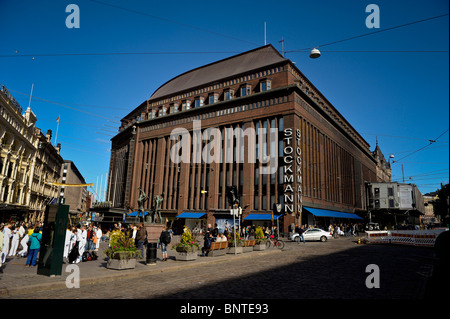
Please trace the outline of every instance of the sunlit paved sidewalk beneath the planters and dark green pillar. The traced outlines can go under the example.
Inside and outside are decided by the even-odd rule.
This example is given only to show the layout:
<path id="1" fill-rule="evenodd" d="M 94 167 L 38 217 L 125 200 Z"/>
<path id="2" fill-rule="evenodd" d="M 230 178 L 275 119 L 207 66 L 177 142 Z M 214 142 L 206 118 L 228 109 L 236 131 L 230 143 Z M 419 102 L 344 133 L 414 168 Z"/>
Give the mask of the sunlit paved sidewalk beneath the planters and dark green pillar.
<path id="1" fill-rule="evenodd" d="M 217 257 L 198 257 L 195 261 L 175 260 L 176 252 L 167 249 L 168 260 L 161 261 L 161 250 L 157 251 L 157 262 L 155 265 L 146 265 L 145 260 L 138 260 L 135 269 L 130 270 L 111 270 L 106 268 L 106 260 L 103 251 L 108 243 L 102 243 L 98 251 L 98 260 L 80 262 L 76 265 L 80 268 L 80 286 L 94 284 L 98 282 L 123 280 L 127 278 L 136 278 L 148 276 L 152 273 L 161 273 L 199 267 L 204 264 L 221 263 L 236 258 L 252 258 L 255 254 L 272 255 L 280 253 L 279 249 L 270 248 L 265 251 L 253 251 L 242 254 L 226 254 Z M 0 298 L 11 297 L 21 293 L 39 292 L 50 289 L 66 288 L 66 278 L 72 273 L 66 272 L 66 266 L 63 264 L 61 276 L 48 277 L 37 274 L 37 266 L 33 268 L 25 267 L 26 258 L 8 257 L 3 264 L 3 273 L 0 274 Z"/>

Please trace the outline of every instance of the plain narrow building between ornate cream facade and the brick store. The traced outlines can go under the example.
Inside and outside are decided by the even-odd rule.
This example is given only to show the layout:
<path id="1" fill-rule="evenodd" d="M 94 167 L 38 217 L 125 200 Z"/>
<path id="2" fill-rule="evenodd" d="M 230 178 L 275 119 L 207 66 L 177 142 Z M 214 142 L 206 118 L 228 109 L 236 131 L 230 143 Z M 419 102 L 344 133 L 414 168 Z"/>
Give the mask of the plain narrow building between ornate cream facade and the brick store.
<path id="1" fill-rule="evenodd" d="M 84 177 L 75 166 L 75 163 L 68 160 L 64 160 L 61 176 L 61 183 L 68 185 L 61 186 L 59 202 L 61 204 L 69 205 L 69 213 L 71 215 L 76 215 L 77 218 L 81 218 L 87 211 L 87 187 L 80 186 L 86 184 Z"/>

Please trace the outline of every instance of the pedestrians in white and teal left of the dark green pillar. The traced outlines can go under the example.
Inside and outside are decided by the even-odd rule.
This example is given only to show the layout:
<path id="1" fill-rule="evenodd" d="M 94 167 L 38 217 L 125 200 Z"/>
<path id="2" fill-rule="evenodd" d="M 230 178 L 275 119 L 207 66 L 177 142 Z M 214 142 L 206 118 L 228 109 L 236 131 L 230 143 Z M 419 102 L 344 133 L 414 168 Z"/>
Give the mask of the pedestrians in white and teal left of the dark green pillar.
<path id="1" fill-rule="evenodd" d="M 0 226 L 0 270 L 6 257 L 27 257 L 26 267 L 36 266 L 42 224 L 6 223 Z"/>

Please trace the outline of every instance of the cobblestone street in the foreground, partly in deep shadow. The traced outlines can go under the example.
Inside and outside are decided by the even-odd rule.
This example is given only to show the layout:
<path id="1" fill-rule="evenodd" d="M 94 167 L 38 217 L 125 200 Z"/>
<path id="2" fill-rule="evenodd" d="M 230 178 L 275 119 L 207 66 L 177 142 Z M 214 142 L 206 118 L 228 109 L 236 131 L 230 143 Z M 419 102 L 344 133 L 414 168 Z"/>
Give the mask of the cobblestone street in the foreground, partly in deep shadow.
<path id="1" fill-rule="evenodd" d="M 80 288 L 22 293 L 12 298 L 164 299 L 416 299 L 423 298 L 434 251 L 400 245 L 357 245 L 355 238 L 325 243 L 287 242 L 285 249 L 246 258 L 199 257 L 202 263 L 138 278 L 82 284 Z M 248 258 L 248 254 L 252 254 Z M 217 258 L 217 259 L 216 259 Z M 164 264 L 158 260 L 158 264 Z M 369 264 L 380 269 L 380 288 L 366 287 Z M 148 266 L 149 267 L 149 266 Z M 3 274 L 5 276 L 6 274 Z M 7 298 L 2 296 L 2 298 Z"/>

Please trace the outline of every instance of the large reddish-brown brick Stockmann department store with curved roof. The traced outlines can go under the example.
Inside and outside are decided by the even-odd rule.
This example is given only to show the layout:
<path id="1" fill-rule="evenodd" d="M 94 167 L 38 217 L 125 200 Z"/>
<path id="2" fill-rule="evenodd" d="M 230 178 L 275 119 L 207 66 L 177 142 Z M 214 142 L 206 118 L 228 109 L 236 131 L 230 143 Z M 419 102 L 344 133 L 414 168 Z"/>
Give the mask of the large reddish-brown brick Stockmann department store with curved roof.
<path id="1" fill-rule="evenodd" d="M 378 180 L 369 144 L 272 45 L 171 79 L 121 122 L 105 213 L 136 211 L 140 187 L 146 210 L 164 195 L 168 220 L 229 221 L 226 190 L 234 185 L 245 223 L 267 223 L 280 204 L 287 231 L 312 215 L 318 223 L 313 208 L 365 215 L 364 185 Z M 189 160 L 177 163 L 179 155 Z"/>

